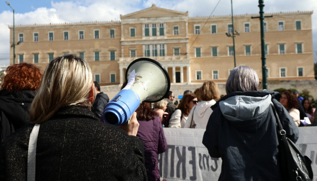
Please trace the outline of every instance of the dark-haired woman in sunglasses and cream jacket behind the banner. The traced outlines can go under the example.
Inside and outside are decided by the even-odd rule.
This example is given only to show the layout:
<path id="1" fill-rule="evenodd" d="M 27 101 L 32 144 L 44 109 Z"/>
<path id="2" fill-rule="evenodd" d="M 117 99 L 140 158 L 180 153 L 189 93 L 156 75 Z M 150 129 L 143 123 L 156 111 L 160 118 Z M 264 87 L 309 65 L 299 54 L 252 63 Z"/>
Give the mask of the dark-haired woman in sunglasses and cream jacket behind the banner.
<path id="1" fill-rule="evenodd" d="M 171 115 L 168 127 L 184 128 L 189 112 L 191 111 L 192 107 L 197 105 L 197 103 L 197 96 L 195 94 L 184 94 L 182 101 L 180 101 L 178 105 L 178 108 Z"/>

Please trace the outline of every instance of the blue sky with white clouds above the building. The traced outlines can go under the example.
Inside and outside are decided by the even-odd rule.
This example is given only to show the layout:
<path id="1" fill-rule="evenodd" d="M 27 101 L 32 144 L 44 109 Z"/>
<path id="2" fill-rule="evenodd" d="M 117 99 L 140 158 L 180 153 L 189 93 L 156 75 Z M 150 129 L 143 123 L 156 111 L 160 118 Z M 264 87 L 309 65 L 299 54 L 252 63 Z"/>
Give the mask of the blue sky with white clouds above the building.
<path id="1" fill-rule="evenodd" d="M 120 20 L 120 14 L 156 6 L 177 11 L 188 11 L 189 16 L 230 15 L 230 0 L 8 0 L 15 9 L 15 24 L 42 24 L 79 21 Z M 2 3 L 2 4 L 1 4 Z M 9 64 L 12 9 L 0 2 L 0 65 Z M 317 0 L 264 0 L 264 12 L 311 11 L 315 61 L 317 60 Z M 233 0 L 233 14 L 258 13 L 258 0 Z"/>

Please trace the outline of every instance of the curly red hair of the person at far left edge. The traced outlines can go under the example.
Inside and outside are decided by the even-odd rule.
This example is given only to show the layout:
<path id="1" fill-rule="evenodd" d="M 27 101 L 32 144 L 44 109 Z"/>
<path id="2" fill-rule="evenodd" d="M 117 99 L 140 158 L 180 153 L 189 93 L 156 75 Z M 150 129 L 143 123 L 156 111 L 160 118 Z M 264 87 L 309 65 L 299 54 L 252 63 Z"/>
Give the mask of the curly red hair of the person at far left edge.
<path id="1" fill-rule="evenodd" d="M 10 65 L 2 78 L 1 89 L 13 93 L 21 90 L 36 91 L 41 84 L 42 71 L 31 63 Z"/>

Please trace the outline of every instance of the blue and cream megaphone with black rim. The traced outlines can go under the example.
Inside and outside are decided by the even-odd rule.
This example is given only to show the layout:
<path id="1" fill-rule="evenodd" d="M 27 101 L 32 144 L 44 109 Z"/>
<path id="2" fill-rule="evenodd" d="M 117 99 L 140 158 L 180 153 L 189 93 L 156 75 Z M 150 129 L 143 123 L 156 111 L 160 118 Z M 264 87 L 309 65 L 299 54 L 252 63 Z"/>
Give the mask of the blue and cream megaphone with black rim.
<path id="1" fill-rule="evenodd" d="M 108 124 L 125 124 L 139 105 L 158 102 L 168 94 L 170 77 L 164 67 L 150 58 L 138 58 L 126 69 L 124 87 L 105 106 L 101 119 Z"/>

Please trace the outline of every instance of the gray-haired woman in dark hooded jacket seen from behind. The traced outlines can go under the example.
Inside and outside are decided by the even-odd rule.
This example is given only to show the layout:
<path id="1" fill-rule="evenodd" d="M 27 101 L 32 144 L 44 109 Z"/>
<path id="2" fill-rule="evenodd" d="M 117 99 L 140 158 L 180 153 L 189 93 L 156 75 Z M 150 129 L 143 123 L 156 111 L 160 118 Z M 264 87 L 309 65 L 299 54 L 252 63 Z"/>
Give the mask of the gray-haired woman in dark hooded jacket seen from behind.
<path id="1" fill-rule="evenodd" d="M 298 139 L 298 129 L 276 100 L 281 95 L 258 91 L 258 87 L 256 71 L 236 67 L 226 83 L 227 95 L 211 106 L 203 144 L 211 157 L 222 159 L 219 180 L 283 180 L 271 102 L 293 142 Z"/>

